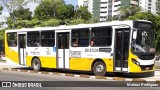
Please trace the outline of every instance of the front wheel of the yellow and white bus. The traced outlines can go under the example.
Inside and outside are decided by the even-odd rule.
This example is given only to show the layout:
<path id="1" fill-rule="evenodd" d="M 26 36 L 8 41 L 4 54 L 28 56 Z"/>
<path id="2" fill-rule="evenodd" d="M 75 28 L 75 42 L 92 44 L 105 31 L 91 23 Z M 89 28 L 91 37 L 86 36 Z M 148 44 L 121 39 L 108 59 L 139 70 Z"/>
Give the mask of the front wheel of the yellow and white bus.
<path id="1" fill-rule="evenodd" d="M 98 61 L 93 66 L 93 72 L 96 76 L 104 76 L 106 74 L 106 65 Z"/>

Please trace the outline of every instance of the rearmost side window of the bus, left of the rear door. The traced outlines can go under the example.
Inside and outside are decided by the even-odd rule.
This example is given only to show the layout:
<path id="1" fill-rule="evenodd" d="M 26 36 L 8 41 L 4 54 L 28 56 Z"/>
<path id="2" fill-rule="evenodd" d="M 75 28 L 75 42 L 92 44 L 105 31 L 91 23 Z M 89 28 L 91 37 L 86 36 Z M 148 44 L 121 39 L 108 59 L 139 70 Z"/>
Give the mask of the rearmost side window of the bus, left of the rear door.
<path id="1" fill-rule="evenodd" d="M 7 42 L 8 42 L 8 46 L 16 47 L 17 46 L 17 33 L 8 33 Z"/>

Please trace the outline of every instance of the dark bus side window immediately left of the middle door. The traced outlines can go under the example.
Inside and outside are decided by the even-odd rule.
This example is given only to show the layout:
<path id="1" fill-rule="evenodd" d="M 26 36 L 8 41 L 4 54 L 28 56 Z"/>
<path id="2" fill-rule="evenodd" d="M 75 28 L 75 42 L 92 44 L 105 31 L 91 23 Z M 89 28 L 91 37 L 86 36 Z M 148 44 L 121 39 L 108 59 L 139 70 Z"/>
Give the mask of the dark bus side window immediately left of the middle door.
<path id="1" fill-rule="evenodd" d="M 41 46 L 53 47 L 55 45 L 55 32 L 54 31 L 42 31 L 41 32 Z"/>

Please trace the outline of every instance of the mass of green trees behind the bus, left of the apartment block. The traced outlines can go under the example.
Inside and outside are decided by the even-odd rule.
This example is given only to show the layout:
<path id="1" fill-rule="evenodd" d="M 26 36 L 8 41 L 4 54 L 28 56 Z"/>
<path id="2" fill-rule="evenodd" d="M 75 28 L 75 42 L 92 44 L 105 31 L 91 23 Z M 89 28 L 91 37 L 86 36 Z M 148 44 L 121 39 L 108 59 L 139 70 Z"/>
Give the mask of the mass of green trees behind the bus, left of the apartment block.
<path id="1" fill-rule="evenodd" d="M 5 0 L 3 0 L 5 1 Z M 11 0 L 14 1 L 14 0 Z M 20 2 L 18 2 L 20 1 Z M 16 3 L 24 3 L 25 0 L 18 0 Z M 29 28 L 29 27 L 45 27 L 58 25 L 75 25 L 79 23 L 96 23 L 97 18 L 92 18 L 86 7 L 80 7 L 74 10 L 71 4 L 66 5 L 64 0 L 30 0 L 39 2 L 39 5 L 34 11 L 34 16 L 31 16 L 29 9 L 19 5 L 10 17 L 7 18 L 9 28 Z M 8 2 L 16 5 L 13 2 Z"/>

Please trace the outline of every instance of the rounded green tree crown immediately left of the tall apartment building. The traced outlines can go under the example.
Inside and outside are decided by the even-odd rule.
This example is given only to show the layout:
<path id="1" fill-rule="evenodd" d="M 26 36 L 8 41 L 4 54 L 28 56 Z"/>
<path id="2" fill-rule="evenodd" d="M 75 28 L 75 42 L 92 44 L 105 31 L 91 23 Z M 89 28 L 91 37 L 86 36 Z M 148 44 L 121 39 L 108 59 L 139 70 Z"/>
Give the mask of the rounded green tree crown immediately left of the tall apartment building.
<path id="1" fill-rule="evenodd" d="M 75 10 L 74 18 L 89 20 L 92 14 L 88 11 L 87 7 L 80 7 Z"/>

